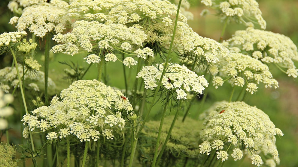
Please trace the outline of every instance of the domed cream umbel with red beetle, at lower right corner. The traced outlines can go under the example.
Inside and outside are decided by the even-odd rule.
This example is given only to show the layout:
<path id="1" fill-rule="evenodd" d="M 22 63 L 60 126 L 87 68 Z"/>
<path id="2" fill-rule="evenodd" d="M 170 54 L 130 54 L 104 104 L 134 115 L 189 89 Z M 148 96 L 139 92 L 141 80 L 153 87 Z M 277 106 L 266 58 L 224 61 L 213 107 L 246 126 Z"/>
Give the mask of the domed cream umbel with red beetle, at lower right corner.
<path id="1" fill-rule="evenodd" d="M 257 166 L 266 159 L 279 163 L 275 135 L 283 136 L 283 133 L 262 110 L 244 102 L 223 101 L 214 104 L 201 118 L 205 125 L 201 133 L 202 154 L 216 150 L 217 159 L 225 161 L 230 153 L 234 160 L 248 153 L 252 164 Z"/>

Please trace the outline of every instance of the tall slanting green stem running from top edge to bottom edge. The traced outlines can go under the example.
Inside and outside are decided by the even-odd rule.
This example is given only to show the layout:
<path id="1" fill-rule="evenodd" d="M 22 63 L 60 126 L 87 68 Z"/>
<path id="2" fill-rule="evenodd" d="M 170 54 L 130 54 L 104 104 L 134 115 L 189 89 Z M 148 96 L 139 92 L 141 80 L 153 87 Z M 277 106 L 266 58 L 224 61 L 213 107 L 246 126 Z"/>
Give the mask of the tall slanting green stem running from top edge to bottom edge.
<path id="1" fill-rule="evenodd" d="M 161 81 L 162 81 L 162 79 L 163 79 L 163 75 L 165 74 L 165 72 L 166 72 L 166 67 L 168 66 L 168 62 L 169 62 L 169 58 L 170 58 L 170 54 L 171 54 L 171 50 L 172 50 L 172 47 L 173 47 L 175 34 L 176 34 L 176 29 L 177 29 L 177 22 L 178 22 L 178 16 L 179 16 L 179 11 L 180 11 L 181 1 L 182 1 L 182 0 L 179 0 L 179 3 L 178 3 L 178 8 L 177 8 L 177 13 L 176 13 L 176 18 L 175 18 L 175 24 L 174 24 L 174 30 L 173 30 L 172 40 L 171 40 L 171 44 L 170 44 L 170 47 L 169 47 L 168 55 L 167 55 L 167 57 L 166 57 L 166 62 L 164 63 L 164 69 L 163 69 L 163 72 L 162 72 L 162 74 L 161 74 L 161 76 L 160 76 L 159 84 L 157 85 L 156 92 L 155 92 L 155 94 L 154 94 L 154 96 L 153 96 L 153 99 L 152 99 L 152 101 L 151 101 L 151 104 L 150 104 L 150 107 L 149 107 L 149 109 L 148 109 L 148 112 L 147 112 L 147 114 L 146 114 L 146 116 L 145 116 L 145 118 L 144 118 L 144 120 L 143 120 L 143 123 L 142 123 L 142 125 L 141 125 L 139 131 L 137 132 L 136 138 L 135 138 L 134 141 L 133 141 L 133 147 L 132 147 L 131 157 L 133 157 L 134 154 L 135 154 L 135 147 L 136 147 L 136 144 L 137 144 L 137 139 L 138 139 L 138 137 L 140 136 L 141 131 L 142 131 L 143 127 L 145 126 L 146 121 L 148 120 L 148 116 L 149 116 L 149 113 L 150 113 L 150 111 L 151 111 L 153 105 L 155 104 L 155 99 L 157 98 L 158 91 L 159 91 L 160 86 L 161 86 L 161 84 L 162 84 Z M 130 160 L 129 160 L 129 167 L 132 166 L 132 160 L 133 160 L 133 158 L 130 158 Z"/>

